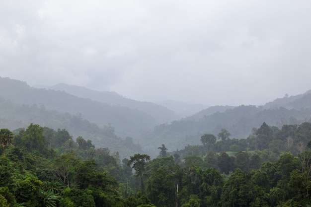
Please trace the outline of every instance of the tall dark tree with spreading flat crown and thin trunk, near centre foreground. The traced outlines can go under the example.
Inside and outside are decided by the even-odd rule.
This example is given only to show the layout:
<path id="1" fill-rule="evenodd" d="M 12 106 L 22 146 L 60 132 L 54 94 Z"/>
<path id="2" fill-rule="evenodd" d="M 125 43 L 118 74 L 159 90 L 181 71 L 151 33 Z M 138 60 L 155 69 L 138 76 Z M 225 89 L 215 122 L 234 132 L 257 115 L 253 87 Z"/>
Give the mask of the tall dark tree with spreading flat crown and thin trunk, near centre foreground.
<path id="1" fill-rule="evenodd" d="M 150 156 L 147 154 L 134 154 L 134 156 L 130 156 L 130 160 L 128 161 L 128 165 L 132 165 L 132 168 L 135 170 L 136 176 L 141 178 L 141 190 L 144 192 L 144 182 L 143 182 L 143 174 L 146 169 L 146 162 L 150 160 Z"/>

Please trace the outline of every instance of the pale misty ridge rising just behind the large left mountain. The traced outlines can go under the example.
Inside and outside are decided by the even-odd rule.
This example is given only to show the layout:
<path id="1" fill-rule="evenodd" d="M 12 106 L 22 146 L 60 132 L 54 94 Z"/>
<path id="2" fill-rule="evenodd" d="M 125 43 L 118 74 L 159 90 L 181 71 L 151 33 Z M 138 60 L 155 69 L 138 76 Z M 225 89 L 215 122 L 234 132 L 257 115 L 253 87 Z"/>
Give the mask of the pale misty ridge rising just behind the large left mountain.
<path id="1" fill-rule="evenodd" d="M 142 111 L 155 118 L 157 123 L 167 123 L 180 118 L 172 110 L 169 110 L 163 106 L 151 102 L 136 101 L 124 98 L 123 96 L 117 94 L 116 92 L 108 92 L 108 91 L 98 92 L 85 87 L 67 85 L 65 83 L 54 85 L 52 87 L 49 87 L 49 89 L 65 91 L 69 94 L 81 98 L 88 98 L 90 100 L 99 101 L 101 103 L 106 103 L 109 105 L 118 105 Z"/>

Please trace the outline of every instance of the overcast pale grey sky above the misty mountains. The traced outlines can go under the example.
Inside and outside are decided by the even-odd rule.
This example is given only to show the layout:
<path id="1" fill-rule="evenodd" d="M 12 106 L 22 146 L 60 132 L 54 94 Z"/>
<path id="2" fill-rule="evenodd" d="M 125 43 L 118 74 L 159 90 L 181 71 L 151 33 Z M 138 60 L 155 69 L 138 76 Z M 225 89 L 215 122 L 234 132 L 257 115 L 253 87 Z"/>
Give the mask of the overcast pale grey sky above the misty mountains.
<path id="1" fill-rule="evenodd" d="M 311 89 L 310 0 L 0 0 L 0 76 L 140 101 Z"/>

